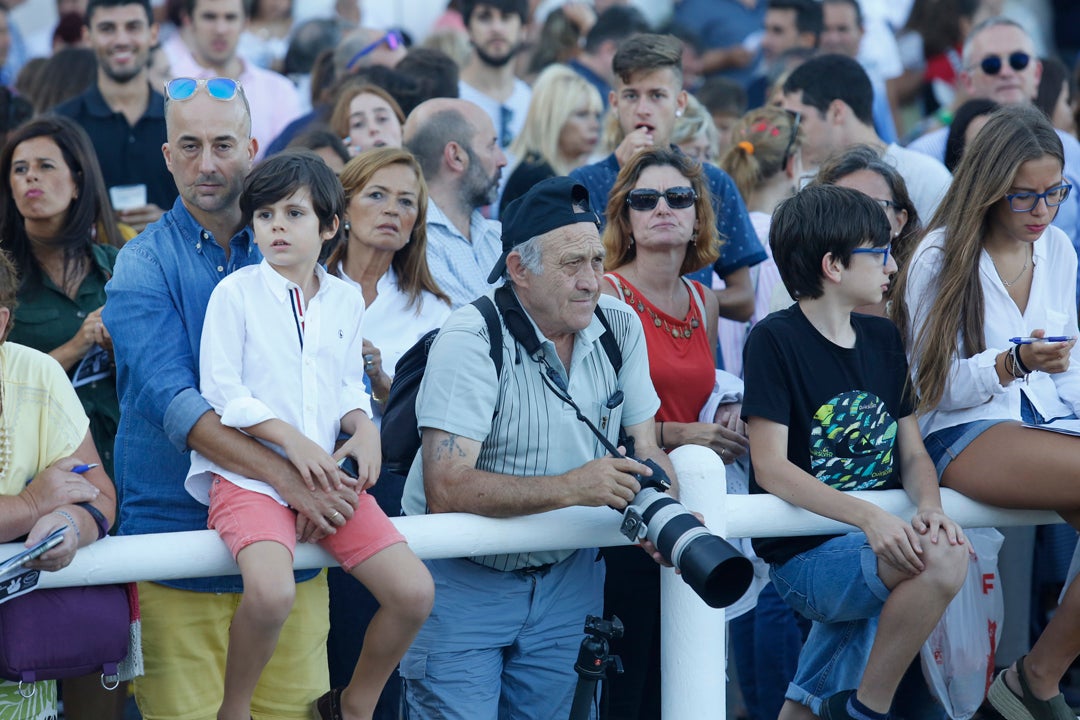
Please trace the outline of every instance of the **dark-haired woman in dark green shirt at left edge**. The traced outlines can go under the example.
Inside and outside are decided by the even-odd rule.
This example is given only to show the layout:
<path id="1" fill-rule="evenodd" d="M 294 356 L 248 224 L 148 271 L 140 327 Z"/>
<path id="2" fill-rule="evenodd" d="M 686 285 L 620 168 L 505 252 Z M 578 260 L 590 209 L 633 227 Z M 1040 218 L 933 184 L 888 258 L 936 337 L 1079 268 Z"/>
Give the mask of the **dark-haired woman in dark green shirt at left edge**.
<path id="1" fill-rule="evenodd" d="M 44 116 L 8 136 L 0 178 L 0 248 L 21 279 L 12 341 L 71 377 L 111 477 L 120 406 L 102 307 L 123 236 L 97 155 L 71 120 Z"/>

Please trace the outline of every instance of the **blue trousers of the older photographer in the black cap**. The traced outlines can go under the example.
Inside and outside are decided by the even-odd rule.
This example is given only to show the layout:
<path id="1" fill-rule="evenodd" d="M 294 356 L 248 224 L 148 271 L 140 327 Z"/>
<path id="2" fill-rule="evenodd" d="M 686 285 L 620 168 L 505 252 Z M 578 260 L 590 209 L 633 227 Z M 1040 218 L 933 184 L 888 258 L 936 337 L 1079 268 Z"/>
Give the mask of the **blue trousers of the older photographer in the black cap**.
<path id="1" fill-rule="evenodd" d="M 539 572 L 426 560 L 435 607 L 401 663 L 414 720 L 564 720 L 585 615 L 604 609 L 604 562 L 581 549 Z"/>

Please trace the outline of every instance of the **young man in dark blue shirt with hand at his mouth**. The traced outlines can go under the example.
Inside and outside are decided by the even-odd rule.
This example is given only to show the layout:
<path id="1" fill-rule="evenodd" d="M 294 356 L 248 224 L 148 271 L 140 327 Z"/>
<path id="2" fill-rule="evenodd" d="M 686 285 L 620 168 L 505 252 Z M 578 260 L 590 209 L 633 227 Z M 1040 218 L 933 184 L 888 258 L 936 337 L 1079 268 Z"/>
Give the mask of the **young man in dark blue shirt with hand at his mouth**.
<path id="1" fill-rule="evenodd" d="M 604 160 L 570 173 L 570 177 L 589 189 L 593 210 L 602 222 L 619 168 L 639 150 L 669 145 L 675 119 L 683 114 L 687 104 L 683 90 L 683 45 L 674 37 L 633 36 L 619 45 L 611 65 L 615 87 L 609 100 L 625 137 Z M 747 321 L 754 314 L 750 268 L 765 260 L 765 249 L 731 178 L 708 163 L 704 169 L 713 193 L 716 229 L 724 245 L 713 268 L 706 268 L 704 276 L 694 279 L 711 287 L 715 270 L 726 284 L 716 293 L 720 316 Z"/>

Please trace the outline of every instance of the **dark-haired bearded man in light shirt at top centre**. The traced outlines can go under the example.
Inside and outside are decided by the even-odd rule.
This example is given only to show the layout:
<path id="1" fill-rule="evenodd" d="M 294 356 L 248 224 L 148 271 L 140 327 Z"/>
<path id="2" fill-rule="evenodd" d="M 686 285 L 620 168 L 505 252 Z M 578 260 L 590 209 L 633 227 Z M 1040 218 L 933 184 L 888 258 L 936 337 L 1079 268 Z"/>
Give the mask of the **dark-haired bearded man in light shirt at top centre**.
<path id="1" fill-rule="evenodd" d="M 528 19 L 527 0 L 467 0 L 461 16 L 473 52 L 461 69 L 458 96 L 475 103 L 491 119 L 505 149 L 525 126 L 532 91 L 514 77 L 513 59 Z"/>

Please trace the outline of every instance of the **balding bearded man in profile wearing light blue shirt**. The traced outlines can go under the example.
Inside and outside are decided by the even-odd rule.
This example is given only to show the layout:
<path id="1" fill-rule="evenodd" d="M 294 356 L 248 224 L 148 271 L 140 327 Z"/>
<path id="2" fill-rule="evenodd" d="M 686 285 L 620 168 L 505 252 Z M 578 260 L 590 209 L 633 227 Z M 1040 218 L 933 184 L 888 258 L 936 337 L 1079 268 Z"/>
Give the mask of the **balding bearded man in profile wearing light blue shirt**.
<path id="1" fill-rule="evenodd" d="M 428 267 L 457 309 L 490 289 L 502 226 L 480 208 L 496 201 L 507 157 L 490 118 L 469 100 L 420 104 L 403 134 L 428 181 Z"/>

